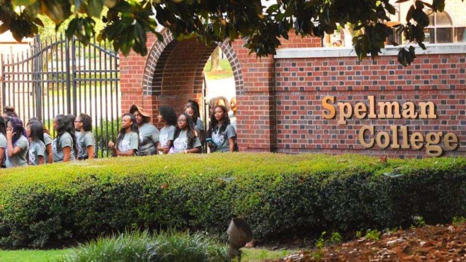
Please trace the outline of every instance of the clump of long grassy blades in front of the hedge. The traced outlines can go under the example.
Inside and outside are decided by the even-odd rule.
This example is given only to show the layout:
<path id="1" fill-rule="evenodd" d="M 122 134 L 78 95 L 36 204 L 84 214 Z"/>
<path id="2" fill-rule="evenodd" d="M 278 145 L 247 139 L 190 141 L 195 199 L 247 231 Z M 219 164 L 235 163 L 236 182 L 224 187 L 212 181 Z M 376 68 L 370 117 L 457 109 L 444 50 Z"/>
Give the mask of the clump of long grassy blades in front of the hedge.
<path id="1" fill-rule="evenodd" d="M 99 238 L 74 249 L 61 262 L 132 261 L 132 262 L 230 262 L 227 247 L 206 235 L 195 233 L 147 231 Z"/>

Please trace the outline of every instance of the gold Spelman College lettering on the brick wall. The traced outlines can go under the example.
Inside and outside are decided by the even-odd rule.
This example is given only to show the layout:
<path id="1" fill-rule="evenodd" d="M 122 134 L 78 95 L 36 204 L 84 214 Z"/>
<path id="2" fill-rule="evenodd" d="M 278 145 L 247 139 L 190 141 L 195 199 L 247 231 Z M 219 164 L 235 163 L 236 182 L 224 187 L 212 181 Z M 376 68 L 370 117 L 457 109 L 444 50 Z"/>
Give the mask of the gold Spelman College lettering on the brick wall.
<path id="1" fill-rule="evenodd" d="M 338 102 L 335 104 L 335 97 L 327 96 L 322 99 L 322 117 L 332 119 L 337 115 L 338 124 L 346 125 L 347 119 L 356 117 L 357 119 L 436 119 L 435 104 L 431 101 L 419 102 L 418 111 L 413 102 L 404 102 L 401 106 L 399 102 L 378 102 L 375 103 L 374 96 L 367 96 L 368 104 L 357 102 L 354 106 L 348 102 Z M 458 147 L 458 137 L 454 133 L 442 131 L 429 132 L 425 136 L 420 132 L 413 132 L 408 136 L 408 126 L 390 126 L 391 135 L 386 131 L 377 131 L 374 126 L 364 125 L 358 132 L 359 143 L 363 147 L 371 148 L 377 144 L 380 148 L 393 149 L 415 149 L 424 147 L 426 153 L 433 157 L 442 154 L 443 146 L 446 150 L 455 150 Z M 399 137 L 401 134 L 401 137 Z M 365 137 L 366 135 L 366 137 Z M 401 139 L 400 139 L 401 138 Z"/>

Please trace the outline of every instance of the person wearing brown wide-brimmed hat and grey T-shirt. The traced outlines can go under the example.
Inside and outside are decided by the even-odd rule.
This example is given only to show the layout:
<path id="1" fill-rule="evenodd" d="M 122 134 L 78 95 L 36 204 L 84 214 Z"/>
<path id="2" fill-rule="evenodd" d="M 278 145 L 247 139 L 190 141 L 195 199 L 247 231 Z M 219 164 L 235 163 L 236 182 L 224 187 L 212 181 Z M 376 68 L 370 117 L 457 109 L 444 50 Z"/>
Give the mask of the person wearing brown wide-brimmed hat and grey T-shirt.
<path id="1" fill-rule="evenodd" d="M 130 114 L 136 118 L 139 127 L 139 156 L 149 156 L 157 154 L 157 142 L 159 142 L 159 130 L 149 124 L 150 115 L 137 105 L 132 105 Z"/>

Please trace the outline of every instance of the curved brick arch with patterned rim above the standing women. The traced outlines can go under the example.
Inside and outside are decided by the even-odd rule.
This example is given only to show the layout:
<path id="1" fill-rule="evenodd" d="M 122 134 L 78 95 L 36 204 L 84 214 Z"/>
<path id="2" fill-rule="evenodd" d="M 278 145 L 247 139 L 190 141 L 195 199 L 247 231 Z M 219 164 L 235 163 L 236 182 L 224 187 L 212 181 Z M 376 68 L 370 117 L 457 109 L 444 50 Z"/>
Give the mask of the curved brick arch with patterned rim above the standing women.
<path id="1" fill-rule="evenodd" d="M 154 114 L 161 105 L 182 112 L 187 99 L 201 101 L 203 69 L 217 45 L 206 47 L 195 40 L 177 41 L 169 30 L 162 35 L 164 41 L 153 44 L 146 60 L 142 80 L 144 106 Z M 244 82 L 239 59 L 228 41 L 218 46 L 232 66 L 236 95 L 241 96 Z"/>

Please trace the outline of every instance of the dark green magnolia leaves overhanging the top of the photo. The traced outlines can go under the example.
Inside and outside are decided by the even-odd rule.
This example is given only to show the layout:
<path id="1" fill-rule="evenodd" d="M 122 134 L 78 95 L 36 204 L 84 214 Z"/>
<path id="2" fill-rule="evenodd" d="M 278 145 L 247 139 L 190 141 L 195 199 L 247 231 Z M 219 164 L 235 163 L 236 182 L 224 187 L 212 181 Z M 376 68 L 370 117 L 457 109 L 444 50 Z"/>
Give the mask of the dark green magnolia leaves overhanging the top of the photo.
<path id="1" fill-rule="evenodd" d="M 416 57 L 412 44 L 425 49 L 424 28 L 429 25 L 425 10 L 442 12 L 445 7 L 445 0 L 411 1 L 407 23 L 395 26 L 408 40 L 398 54 L 404 66 Z M 86 45 L 97 36 L 112 41 L 124 55 L 131 49 L 146 55 L 147 33 L 162 41 L 162 27 L 178 40 L 194 38 L 206 45 L 241 37 L 244 47 L 260 57 L 275 54 L 280 39 L 287 39 L 292 29 L 302 37 L 323 37 L 338 25 L 349 24 L 359 60 L 378 55 L 392 34 L 388 14 L 396 12 L 390 0 L 277 0 L 267 7 L 260 0 L 0 0 L 0 4 L 0 33 L 10 30 L 17 41 L 44 26 L 38 15 L 49 16 L 57 28 L 73 17 L 66 29 L 68 39 L 74 35 Z M 95 32 L 97 19 L 105 23 L 100 32 Z"/>

